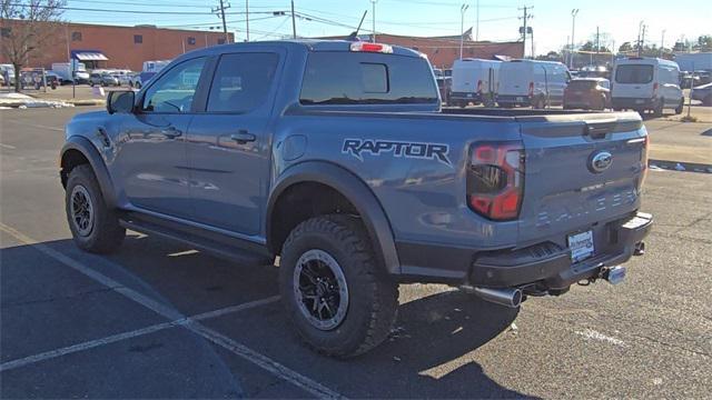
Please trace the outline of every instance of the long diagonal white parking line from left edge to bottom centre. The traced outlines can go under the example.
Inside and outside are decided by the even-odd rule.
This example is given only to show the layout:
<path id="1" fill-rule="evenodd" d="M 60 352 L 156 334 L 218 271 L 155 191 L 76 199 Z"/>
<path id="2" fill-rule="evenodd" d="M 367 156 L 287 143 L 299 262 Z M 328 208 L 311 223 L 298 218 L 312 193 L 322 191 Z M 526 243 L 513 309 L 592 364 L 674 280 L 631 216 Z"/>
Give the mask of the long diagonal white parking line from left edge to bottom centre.
<path id="1" fill-rule="evenodd" d="M 83 266 L 81 262 L 76 261 L 72 258 L 69 258 L 62 253 L 60 253 L 59 251 L 39 243 L 37 240 L 26 236 L 24 233 L 18 231 L 17 229 L 9 227 L 2 222 L 0 222 L 0 230 L 4 231 L 6 233 L 14 237 L 18 241 L 22 242 L 23 244 L 28 244 L 28 246 L 32 246 L 34 249 L 37 249 L 38 251 L 42 252 L 44 256 L 48 256 L 61 263 L 63 263 L 65 266 L 76 270 L 77 272 L 80 272 L 91 279 L 93 279 L 95 281 L 108 287 L 108 288 L 113 288 L 115 291 L 117 291 L 118 293 L 123 294 L 125 297 L 134 300 L 135 302 L 159 313 L 160 316 L 168 318 L 170 320 L 180 320 L 180 319 L 186 319 L 186 317 L 181 316 L 178 311 L 170 309 L 164 304 L 158 303 L 157 301 L 155 301 L 154 299 L 150 299 L 139 292 L 137 292 L 136 290 L 132 290 L 130 288 L 126 288 L 122 287 L 120 282 L 102 274 L 99 273 L 95 270 L 92 270 L 89 267 Z M 166 323 L 170 323 L 170 322 L 166 322 Z M 304 389 L 305 391 L 312 393 L 313 396 L 319 398 L 319 399 L 333 399 L 333 398 L 344 398 L 344 396 L 339 394 L 338 392 L 333 391 L 332 389 L 316 382 L 315 380 L 307 378 L 303 374 L 300 374 L 297 371 L 294 371 L 283 364 L 280 364 L 279 362 L 268 358 L 267 356 L 264 356 L 255 350 L 249 349 L 248 347 L 236 342 L 235 340 L 227 338 L 220 333 L 218 333 L 217 331 L 207 328 L 202 324 L 200 324 L 197 321 L 194 320 L 187 320 L 182 327 L 185 327 L 186 329 L 190 330 L 194 333 L 197 333 L 199 336 L 201 336 L 202 338 L 214 342 L 215 344 L 218 344 L 227 350 L 229 350 L 230 352 L 233 352 L 234 354 L 237 354 L 239 357 L 241 357 L 243 359 L 263 368 L 264 370 L 271 372 L 273 374 Z M 162 328 L 165 329 L 165 328 Z"/>

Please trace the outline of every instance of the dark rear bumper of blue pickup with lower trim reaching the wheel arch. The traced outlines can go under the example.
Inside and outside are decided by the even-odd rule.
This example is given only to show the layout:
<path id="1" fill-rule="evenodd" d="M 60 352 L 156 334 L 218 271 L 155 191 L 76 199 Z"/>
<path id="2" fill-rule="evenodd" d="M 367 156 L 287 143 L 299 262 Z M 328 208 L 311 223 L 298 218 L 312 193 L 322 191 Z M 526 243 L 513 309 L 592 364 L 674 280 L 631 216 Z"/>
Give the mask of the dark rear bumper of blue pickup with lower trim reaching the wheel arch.
<path id="1" fill-rule="evenodd" d="M 627 261 L 650 232 L 653 217 L 635 216 L 606 224 L 607 244 L 593 257 L 572 262 L 571 250 L 553 242 L 524 249 L 476 251 L 474 249 L 397 243 L 404 282 L 442 282 L 483 288 L 531 287 L 541 291 L 565 291 L 572 283 L 597 278 L 605 267 Z M 434 268 L 429 266 L 447 266 Z"/>

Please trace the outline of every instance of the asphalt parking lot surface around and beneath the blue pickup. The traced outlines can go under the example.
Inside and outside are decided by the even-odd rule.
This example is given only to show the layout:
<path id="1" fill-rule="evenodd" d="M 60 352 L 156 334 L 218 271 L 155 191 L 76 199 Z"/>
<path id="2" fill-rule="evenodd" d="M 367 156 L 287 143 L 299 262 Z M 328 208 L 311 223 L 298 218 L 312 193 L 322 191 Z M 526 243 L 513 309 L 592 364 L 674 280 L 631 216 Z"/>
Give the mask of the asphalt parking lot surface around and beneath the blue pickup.
<path id="1" fill-rule="evenodd" d="M 276 267 L 140 234 L 109 257 L 72 244 L 57 157 L 87 110 L 0 111 L 2 398 L 710 396 L 712 173 L 649 173 L 656 224 L 621 286 L 518 311 L 403 286 L 390 339 L 336 361 L 299 343 Z M 712 124 L 645 123 L 651 159 L 712 164 Z"/>

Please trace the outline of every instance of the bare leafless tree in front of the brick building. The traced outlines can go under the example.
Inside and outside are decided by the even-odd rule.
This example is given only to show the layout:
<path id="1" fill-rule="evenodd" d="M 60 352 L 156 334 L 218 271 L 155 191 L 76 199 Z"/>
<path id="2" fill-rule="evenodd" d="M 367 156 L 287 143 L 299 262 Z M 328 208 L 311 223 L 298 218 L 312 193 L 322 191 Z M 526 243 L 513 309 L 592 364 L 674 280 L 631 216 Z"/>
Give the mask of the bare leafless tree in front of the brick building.
<path id="1" fill-rule="evenodd" d="M 21 88 L 20 69 L 29 58 L 55 44 L 67 0 L 0 0 L 0 43 L 14 67 L 14 91 Z"/>

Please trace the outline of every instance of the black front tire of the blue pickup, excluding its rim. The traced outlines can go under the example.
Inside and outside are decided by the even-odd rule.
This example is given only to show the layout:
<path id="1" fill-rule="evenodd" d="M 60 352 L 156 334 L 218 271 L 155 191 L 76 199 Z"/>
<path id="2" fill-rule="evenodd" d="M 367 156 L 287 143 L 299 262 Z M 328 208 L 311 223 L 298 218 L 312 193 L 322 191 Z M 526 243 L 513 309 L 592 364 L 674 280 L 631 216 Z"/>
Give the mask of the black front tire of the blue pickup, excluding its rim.
<path id="1" fill-rule="evenodd" d="M 86 234 L 80 233 L 71 211 L 72 193 L 77 186 L 86 189 L 93 212 L 91 231 Z M 65 208 L 72 238 L 80 249 L 93 253 L 110 253 L 123 242 L 126 229 L 119 224 L 116 210 L 107 207 L 99 182 L 89 164 L 77 166 L 69 173 L 65 193 Z"/>

